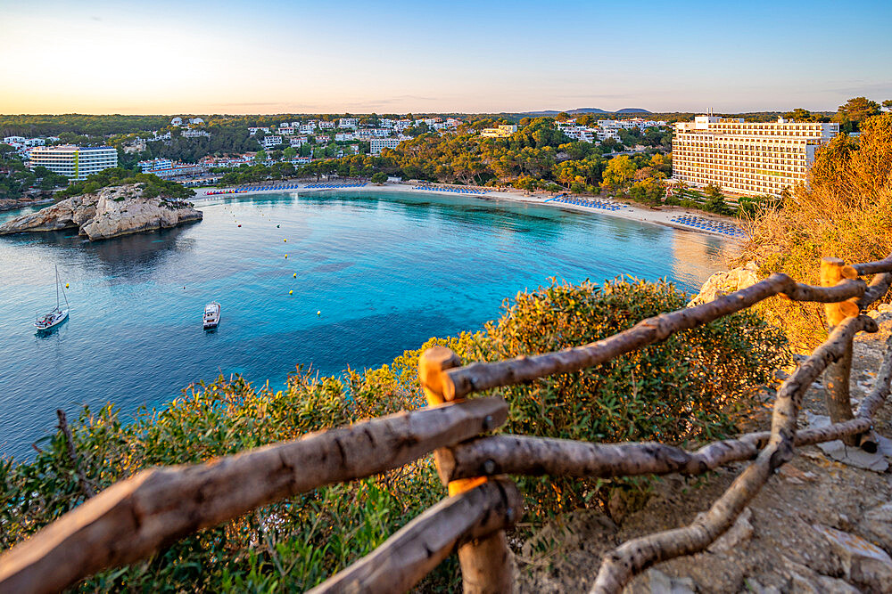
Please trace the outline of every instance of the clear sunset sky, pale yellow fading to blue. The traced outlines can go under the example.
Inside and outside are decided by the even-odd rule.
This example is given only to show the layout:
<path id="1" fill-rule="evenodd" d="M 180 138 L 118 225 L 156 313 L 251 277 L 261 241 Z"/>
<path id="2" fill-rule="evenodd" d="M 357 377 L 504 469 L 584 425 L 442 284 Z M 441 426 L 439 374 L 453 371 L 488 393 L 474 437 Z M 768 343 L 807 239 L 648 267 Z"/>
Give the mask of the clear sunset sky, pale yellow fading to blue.
<path id="1" fill-rule="evenodd" d="M 889 0 L 0 0 L 0 113 L 835 110 L 892 99 L 890 31 Z"/>

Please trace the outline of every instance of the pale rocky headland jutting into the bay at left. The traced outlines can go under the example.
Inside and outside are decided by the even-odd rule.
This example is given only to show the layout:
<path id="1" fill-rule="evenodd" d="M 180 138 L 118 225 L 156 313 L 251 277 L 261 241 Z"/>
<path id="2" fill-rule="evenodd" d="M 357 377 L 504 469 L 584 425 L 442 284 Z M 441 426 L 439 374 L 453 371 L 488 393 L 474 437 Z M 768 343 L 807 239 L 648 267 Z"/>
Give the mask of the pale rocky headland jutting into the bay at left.
<path id="1" fill-rule="evenodd" d="M 191 202 L 164 196 L 146 198 L 141 184 L 111 186 L 75 196 L 0 224 L 0 235 L 78 229 L 91 241 L 176 227 L 201 221 Z"/>

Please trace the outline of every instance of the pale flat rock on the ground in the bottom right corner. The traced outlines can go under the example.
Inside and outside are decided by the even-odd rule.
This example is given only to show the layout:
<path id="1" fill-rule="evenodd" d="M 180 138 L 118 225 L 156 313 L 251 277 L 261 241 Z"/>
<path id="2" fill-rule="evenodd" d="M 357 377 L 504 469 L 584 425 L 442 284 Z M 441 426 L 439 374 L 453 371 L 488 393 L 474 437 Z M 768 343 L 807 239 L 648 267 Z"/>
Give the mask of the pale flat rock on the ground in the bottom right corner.
<path id="1" fill-rule="evenodd" d="M 892 592 L 892 557 L 885 550 L 835 528 L 815 524 L 814 529 L 830 541 L 849 582 L 862 585 L 868 591 Z"/>

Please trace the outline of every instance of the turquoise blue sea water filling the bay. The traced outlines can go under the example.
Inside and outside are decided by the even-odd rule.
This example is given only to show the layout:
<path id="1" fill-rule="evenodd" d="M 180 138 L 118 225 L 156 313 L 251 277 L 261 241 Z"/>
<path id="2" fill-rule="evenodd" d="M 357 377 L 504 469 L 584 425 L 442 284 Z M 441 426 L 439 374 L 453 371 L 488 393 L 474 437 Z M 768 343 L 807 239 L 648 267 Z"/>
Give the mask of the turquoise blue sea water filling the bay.
<path id="1" fill-rule="evenodd" d="M 500 315 L 504 297 L 549 276 L 665 276 L 694 290 L 729 246 L 460 196 L 332 192 L 196 204 L 202 223 L 161 232 L 95 243 L 73 231 L 0 238 L 0 454 L 29 457 L 57 408 L 76 414 L 82 403 L 111 401 L 128 414 L 219 373 L 278 386 L 297 363 L 334 374 L 390 362 L 432 336 L 479 329 Z M 70 319 L 38 337 L 31 323 L 55 305 L 54 264 L 70 283 Z M 211 300 L 222 304 L 222 321 L 205 333 Z"/>

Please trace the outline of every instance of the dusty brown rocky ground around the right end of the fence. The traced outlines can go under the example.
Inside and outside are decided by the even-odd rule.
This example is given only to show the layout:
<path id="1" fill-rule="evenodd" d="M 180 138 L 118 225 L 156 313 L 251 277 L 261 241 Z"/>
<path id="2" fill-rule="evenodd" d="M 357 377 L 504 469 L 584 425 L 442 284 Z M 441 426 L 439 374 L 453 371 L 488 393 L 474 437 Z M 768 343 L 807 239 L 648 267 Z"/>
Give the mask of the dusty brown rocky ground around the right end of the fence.
<path id="1" fill-rule="evenodd" d="M 892 313 L 873 312 L 880 332 L 855 341 L 851 390 L 860 400 L 880 367 Z M 767 429 L 773 394 L 754 426 Z M 820 424 L 824 389 L 816 382 L 800 416 Z M 892 403 L 875 423 L 892 437 Z M 892 443 L 873 456 L 841 442 L 797 450 L 738 523 L 706 552 L 660 564 L 626 592 L 892 592 Z M 826 452 L 825 452 L 826 450 Z M 843 461 L 840 461 L 843 460 Z M 845 463 L 844 463 L 845 462 Z M 865 469 L 865 468 L 873 469 Z M 601 557 L 637 536 L 690 524 L 721 496 L 746 463 L 703 477 L 665 476 L 643 509 L 613 517 L 581 510 L 538 530 L 516 555 L 517 590 L 587 592 Z"/>

